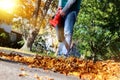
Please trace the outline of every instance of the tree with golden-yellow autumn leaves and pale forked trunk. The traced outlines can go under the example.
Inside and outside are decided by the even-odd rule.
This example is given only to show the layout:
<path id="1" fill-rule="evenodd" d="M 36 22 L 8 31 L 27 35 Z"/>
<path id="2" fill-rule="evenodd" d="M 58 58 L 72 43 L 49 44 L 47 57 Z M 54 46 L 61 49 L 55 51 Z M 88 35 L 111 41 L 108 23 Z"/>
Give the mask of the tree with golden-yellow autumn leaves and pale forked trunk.
<path id="1" fill-rule="evenodd" d="M 13 18 L 21 17 L 20 23 L 13 23 L 15 26 L 23 28 L 27 35 L 23 32 L 24 36 L 23 39 L 25 41 L 24 46 L 22 49 L 24 50 L 31 50 L 32 44 L 36 38 L 36 36 L 39 33 L 40 28 L 44 28 L 46 24 L 48 23 L 49 18 L 52 16 L 52 14 L 48 14 L 48 10 L 51 10 L 51 12 L 54 12 L 54 8 L 56 7 L 57 1 L 52 0 L 19 0 L 17 2 L 17 7 L 12 12 L 12 17 L 0 17 L 1 20 L 6 20 L 6 18 L 9 18 L 5 21 L 8 23 L 12 23 Z M 3 12 L 4 14 L 4 12 Z M 8 13 L 7 13 L 8 14 Z M 29 20 L 28 24 L 29 27 L 26 29 L 26 24 L 24 24 L 24 19 Z M 19 22 L 19 21 L 18 21 Z"/>

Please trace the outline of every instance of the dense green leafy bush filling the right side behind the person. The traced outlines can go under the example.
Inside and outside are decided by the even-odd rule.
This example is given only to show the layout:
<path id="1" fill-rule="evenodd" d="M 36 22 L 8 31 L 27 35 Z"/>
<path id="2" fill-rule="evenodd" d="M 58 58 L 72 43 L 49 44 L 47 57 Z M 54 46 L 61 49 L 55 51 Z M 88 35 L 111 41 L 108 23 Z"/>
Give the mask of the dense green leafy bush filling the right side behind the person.
<path id="1" fill-rule="evenodd" d="M 73 37 L 83 55 L 108 59 L 119 54 L 119 5 L 117 0 L 83 0 Z"/>

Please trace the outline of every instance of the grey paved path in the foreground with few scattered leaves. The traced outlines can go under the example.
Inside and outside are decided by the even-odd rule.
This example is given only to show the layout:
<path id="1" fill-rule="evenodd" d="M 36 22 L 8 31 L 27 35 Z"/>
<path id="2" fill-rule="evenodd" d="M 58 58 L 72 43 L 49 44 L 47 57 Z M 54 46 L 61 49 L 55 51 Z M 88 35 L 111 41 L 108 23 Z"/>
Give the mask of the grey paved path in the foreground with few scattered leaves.
<path id="1" fill-rule="evenodd" d="M 22 71 L 21 68 L 24 70 Z M 20 74 L 26 74 L 26 76 L 19 76 Z M 35 75 L 42 77 L 40 80 L 79 80 L 75 76 L 65 76 L 39 68 L 29 68 L 22 63 L 0 59 L 0 80 L 38 80 Z"/>

